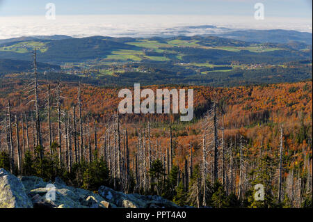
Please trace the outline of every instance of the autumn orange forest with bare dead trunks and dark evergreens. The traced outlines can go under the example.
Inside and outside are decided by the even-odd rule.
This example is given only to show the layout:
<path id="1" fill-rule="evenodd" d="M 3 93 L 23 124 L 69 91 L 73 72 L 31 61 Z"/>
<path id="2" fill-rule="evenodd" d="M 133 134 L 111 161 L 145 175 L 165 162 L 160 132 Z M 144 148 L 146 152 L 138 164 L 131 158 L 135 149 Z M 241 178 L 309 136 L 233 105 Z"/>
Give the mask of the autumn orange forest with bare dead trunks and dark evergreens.
<path id="1" fill-rule="evenodd" d="M 0 168 L 182 207 L 312 207 L 312 81 L 149 86 L 193 88 L 186 123 L 121 115 L 120 87 L 39 79 L 34 65 L 26 79 L 1 81 Z"/>

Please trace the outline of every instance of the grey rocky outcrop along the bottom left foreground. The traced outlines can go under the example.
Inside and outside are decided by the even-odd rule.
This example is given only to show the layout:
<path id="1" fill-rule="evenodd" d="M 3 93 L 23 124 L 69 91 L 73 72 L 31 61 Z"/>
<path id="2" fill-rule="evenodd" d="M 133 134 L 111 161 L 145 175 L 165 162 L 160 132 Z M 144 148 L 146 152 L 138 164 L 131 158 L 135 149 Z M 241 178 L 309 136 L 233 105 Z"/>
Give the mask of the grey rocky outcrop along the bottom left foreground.
<path id="1" fill-rule="evenodd" d="M 175 203 L 160 196 L 125 194 L 101 186 L 97 193 L 68 187 L 56 177 L 54 183 L 40 177 L 15 177 L 0 169 L 0 208 L 177 208 Z"/>

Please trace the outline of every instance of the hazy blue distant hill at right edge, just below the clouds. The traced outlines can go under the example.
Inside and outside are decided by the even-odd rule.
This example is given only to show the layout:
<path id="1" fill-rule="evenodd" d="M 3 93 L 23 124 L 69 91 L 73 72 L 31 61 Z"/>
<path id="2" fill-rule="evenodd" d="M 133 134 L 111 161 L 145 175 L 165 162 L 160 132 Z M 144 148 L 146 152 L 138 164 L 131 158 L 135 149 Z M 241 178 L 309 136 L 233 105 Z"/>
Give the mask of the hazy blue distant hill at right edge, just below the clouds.
<path id="1" fill-rule="evenodd" d="M 307 45 L 312 45 L 312 33 L 282 29 L 230 31 L 216 34 L 216 36 L 223 38 L 233 38 L 246 42 L 303 42 Z"/>

